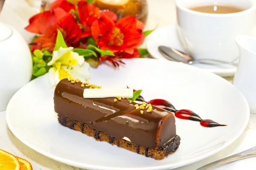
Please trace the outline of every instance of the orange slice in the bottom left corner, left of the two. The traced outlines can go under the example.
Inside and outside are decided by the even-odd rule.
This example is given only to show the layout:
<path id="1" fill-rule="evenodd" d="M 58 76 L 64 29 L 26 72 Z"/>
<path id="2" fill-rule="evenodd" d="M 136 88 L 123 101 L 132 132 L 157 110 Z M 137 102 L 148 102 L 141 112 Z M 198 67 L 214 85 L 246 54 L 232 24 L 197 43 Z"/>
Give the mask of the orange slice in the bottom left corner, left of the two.
<path id="1" fill-rule="evenodd" d="M 0 170 L 20 170 L 18 159 L 4 150 L 0 150 Z"/>

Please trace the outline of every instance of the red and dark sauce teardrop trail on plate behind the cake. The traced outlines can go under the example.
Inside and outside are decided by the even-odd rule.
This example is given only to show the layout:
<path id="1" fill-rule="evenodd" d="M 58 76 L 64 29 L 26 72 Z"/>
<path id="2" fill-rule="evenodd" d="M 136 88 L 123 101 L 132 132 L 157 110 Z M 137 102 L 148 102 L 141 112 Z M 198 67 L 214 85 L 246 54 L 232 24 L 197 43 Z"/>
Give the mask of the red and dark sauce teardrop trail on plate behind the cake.
<path id="1" fill-rule="evenodd" d="M 145 99 L 142 96 L 139 96 L 136 101 L 145 102 Z M 227 126 L 227 125 L 221 125 L 217 122 L 214 122 L 211 119 L 202 119 L 198 114 L 194 113 L 193 111 L 189 111 L 186 109 L 182 110 L 176 110 L 174 105 L 172 105 L 167 100 L 163 99 L 153 99 L 146 103 L 150 103 L 151 105 L 157 106 L 159 108 L 163 108 L 166 111 L 174 112 L 175 117 L 179 119 L 186 119 L 186 120 L 192 120 L 196 122 L 200 122 L 200 125 L 203 127 L 216 127 L 216 126 Z"/>

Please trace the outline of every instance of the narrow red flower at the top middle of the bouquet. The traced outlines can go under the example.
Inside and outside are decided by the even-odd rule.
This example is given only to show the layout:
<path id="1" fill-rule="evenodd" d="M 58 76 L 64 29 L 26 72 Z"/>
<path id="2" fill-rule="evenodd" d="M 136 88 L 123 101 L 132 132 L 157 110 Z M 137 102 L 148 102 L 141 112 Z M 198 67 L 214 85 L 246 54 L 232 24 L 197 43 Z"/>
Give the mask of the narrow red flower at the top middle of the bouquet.
<path id="1" fill-rule="evenodd" d="M 78 14 L 81 25 L 83 26 L 82 38 L 92 35 L 91 26 L 94 21 L 99 20 L 101 13 L 94 4 L 88 4 L 87 1 L 78 3 Z"/>

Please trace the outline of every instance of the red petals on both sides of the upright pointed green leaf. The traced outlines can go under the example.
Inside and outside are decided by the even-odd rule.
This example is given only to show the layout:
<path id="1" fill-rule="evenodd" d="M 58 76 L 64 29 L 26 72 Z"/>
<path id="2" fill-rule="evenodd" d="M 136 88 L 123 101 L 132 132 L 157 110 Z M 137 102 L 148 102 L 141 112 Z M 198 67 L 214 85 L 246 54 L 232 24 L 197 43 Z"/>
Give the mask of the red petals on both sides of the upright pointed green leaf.
<path id="1" fill-rule="evenodd" d="M 76 22 L 76 19 L 72 14 L 67 14 L 62 17 L 55 25 L 49 26 L 45 30 L 45 34 L 42 37 L 38 37 L 32 46 L 32 50 L 47 48 L 49 51 L 53 51 L 56 37 L 57 29 L 59 29 L 64 37 L 65 42 L 68 46 L 75 44 L 81 38 L 81 28 Z M 40 46 L 38 46 L 40 45 Z"/>

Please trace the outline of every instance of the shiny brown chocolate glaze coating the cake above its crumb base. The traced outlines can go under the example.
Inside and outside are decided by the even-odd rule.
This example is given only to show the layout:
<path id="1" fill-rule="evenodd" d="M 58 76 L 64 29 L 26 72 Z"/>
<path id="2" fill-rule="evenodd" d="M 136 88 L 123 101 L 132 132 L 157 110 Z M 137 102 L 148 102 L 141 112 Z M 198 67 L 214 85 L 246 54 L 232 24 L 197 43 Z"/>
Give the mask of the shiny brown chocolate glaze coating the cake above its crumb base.
<path id="1" fill-rule="evenodd" d="M 137 146 L 158 148 L 176 136 L 175 116 L 171 112 L 153 106 L 152 112 L 144 109 L 141 114 L 134 107 L 136 103 L 127 99 L 117 102 L 113 101 L 115 97 L 85 99 L 84 88 L 88 87 L 81 87 L 81 82 L 72 84 L 67 79 L 61 80 L 55 88 L 54 108 L 62 117 L 95 129 L 96 139 L 103 131 L 111 137 L 127 137 Z"/>

